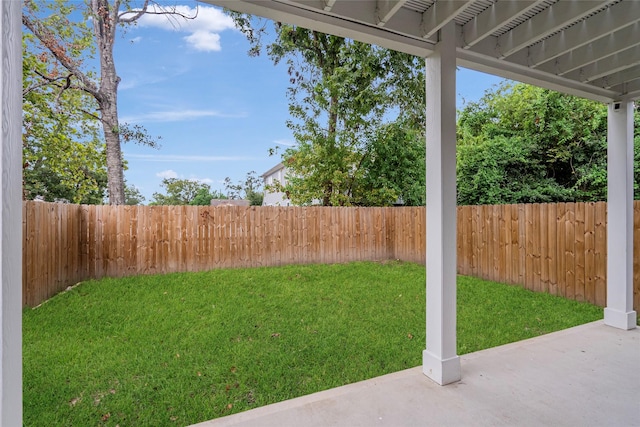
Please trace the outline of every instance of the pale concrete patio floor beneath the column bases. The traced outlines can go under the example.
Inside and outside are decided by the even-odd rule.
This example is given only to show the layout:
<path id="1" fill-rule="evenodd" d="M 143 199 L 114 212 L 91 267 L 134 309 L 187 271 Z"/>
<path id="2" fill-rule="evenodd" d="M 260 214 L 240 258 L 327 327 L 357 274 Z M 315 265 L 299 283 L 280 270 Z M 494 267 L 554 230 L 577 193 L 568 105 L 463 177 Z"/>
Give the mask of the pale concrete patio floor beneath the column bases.
<path id="1" fill-rule="evenodd" d="M 638 328 L 598 321 L 461 359 L 448 386 L 416 367 L 197 426 L 640 426 Z"/>

